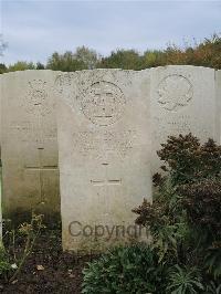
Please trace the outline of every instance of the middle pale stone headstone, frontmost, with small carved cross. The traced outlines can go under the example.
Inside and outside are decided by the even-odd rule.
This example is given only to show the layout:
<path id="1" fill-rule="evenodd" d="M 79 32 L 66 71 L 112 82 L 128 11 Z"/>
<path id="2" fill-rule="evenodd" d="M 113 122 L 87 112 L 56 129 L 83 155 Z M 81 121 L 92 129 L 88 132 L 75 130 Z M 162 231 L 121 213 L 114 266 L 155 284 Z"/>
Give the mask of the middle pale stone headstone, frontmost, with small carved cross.
<path id="1" fill-rule="evenodd" d="M 136 237 L 131 209 L 151 199 L 149 77 L 95 70 L 56 78 L 64 250 Z"/>

